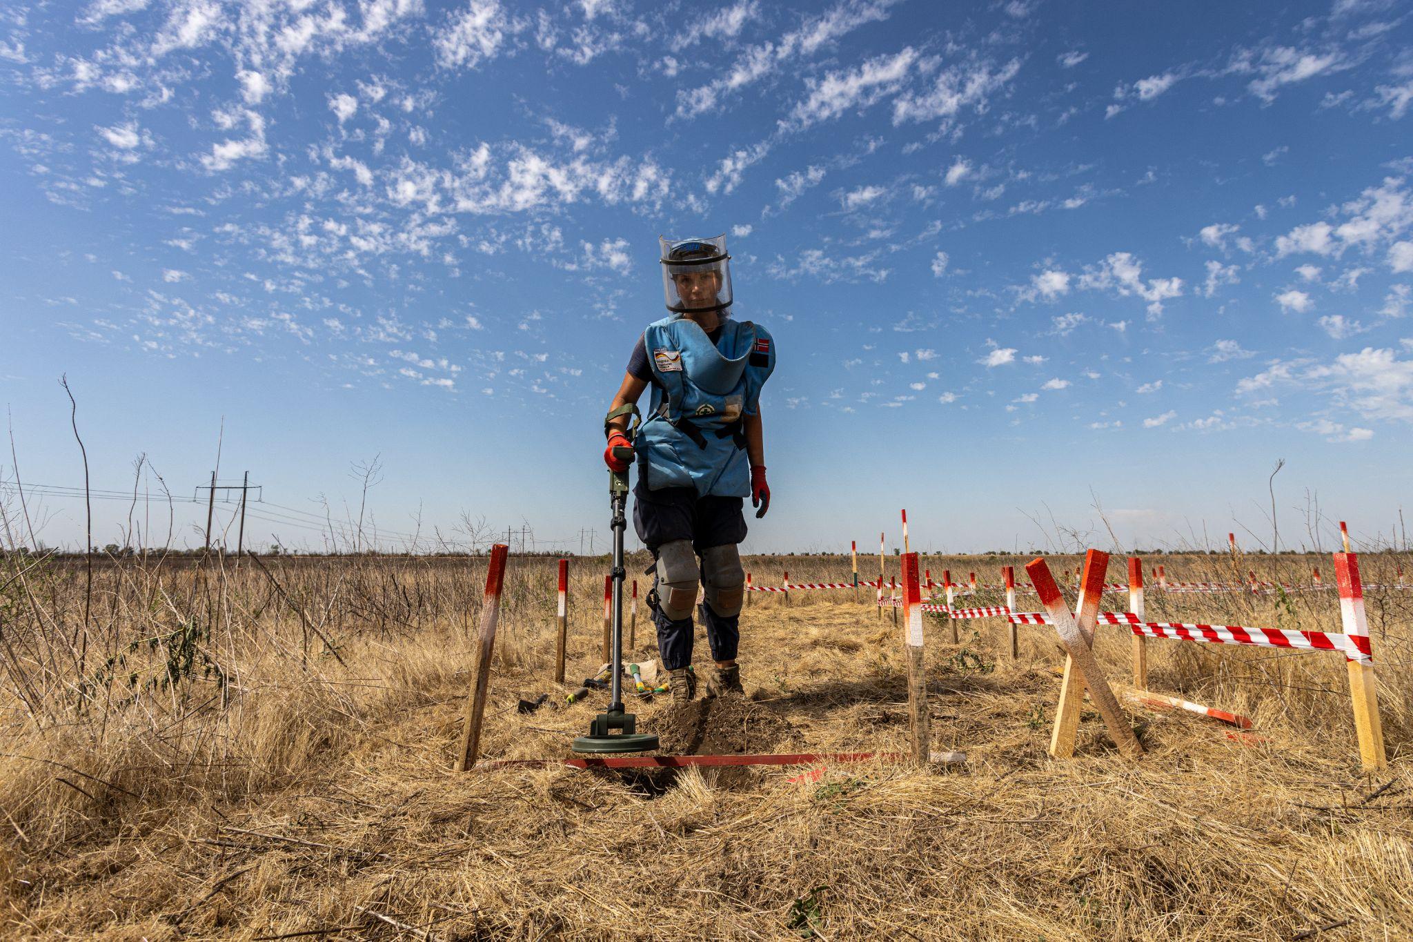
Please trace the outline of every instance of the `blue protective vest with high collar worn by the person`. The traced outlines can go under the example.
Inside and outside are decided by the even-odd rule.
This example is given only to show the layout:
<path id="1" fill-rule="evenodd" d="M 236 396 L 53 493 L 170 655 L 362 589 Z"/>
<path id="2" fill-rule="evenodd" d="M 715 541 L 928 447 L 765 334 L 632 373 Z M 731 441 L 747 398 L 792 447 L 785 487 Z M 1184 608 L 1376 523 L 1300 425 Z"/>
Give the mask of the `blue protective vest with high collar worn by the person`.
<path id="1" fill-rule="evenodd" d="M 691 318 L 670 316 L 643 332 L 653 367 L 653 407 L 637 432 L 639 475 L 650 490 L 695 487 L 698 496 L 750 496 L 742 419 L 776 369 L 770 332 L 725 321 L 714 345 Z"/>

